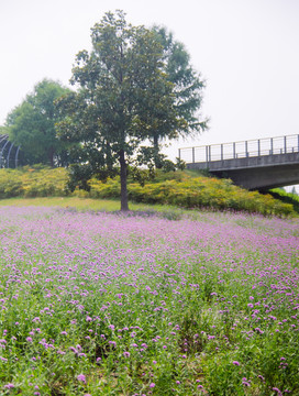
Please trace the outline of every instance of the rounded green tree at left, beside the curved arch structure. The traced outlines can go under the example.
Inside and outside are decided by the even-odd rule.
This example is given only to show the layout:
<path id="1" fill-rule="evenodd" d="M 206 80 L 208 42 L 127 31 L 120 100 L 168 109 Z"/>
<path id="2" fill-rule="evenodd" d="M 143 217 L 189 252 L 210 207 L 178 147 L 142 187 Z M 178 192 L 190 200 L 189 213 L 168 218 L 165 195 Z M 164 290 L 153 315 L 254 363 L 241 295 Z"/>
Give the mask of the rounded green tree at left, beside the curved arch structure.
<path id="1" fill-rule="evenodd" d="M 9 139 L 21 146 L 20 162 L 25 164 L 65 165 L 66 146 L 56 138 L 58 121 L 54 101 L 69 94 L 59 82 L 44 79 L 7 118 Z"/>

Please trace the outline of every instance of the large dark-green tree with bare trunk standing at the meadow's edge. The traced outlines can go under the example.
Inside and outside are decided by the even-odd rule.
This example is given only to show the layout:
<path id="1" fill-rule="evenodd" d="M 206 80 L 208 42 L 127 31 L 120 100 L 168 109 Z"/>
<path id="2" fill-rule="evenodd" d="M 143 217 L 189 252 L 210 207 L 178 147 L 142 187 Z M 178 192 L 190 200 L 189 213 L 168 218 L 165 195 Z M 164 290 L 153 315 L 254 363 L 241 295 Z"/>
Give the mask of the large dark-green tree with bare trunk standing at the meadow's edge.
<path id="1" fill-rule="evenodd" d="M 57 131 L 62 140 L 81 144 L 82 162 L 95 170 L 119 163 L 121 209 L 128 210 L 129 161 L 144 152 L 153 130 L 175 135 L 186 120 L 176 110 L 175 87 L 154 31 L 128 24 L 122 11 L 108 12 L 91 29 L 91 42 L 92 51 L 81 51 L 73 68 L 77 94 L 58 101 L 65 119 Z"/>

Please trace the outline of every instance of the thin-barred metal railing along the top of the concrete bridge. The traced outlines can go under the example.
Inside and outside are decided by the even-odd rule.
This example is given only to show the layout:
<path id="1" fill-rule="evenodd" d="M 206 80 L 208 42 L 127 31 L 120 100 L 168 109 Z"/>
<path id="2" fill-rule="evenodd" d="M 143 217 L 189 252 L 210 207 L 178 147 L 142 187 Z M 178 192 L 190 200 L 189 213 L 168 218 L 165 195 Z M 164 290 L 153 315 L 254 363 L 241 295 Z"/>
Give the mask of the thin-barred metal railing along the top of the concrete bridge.
<path id="1" fill-rule="evenodd" d="M 235 158 L 258 157 L 299 152 L 299 134 L 210 144 L 178 150 L 180 160 L 188 163 L 207 163 Z"/>

